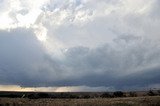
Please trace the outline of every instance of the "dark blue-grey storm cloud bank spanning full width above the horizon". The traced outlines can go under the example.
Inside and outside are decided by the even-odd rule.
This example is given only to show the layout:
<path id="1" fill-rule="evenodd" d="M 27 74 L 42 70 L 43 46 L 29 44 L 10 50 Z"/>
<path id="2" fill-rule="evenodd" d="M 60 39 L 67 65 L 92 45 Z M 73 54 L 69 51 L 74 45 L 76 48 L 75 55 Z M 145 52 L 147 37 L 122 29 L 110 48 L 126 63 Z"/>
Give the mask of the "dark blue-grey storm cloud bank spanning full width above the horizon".
<path id="1" fill-rule="evenodd" d="M 125 35 L 118 41 L 124 38 L 128 39 Z M 106 44 L 94 49 L 69 48 L 63 59 L 56 59 L 46 54 L 31 30 L 1 31 L 0 83 L 113 86 L 116 89 L 160 83 L 159 43 L 135 37 L 129 39 L 134 43 L 114 42 L 114 46 Z"/>

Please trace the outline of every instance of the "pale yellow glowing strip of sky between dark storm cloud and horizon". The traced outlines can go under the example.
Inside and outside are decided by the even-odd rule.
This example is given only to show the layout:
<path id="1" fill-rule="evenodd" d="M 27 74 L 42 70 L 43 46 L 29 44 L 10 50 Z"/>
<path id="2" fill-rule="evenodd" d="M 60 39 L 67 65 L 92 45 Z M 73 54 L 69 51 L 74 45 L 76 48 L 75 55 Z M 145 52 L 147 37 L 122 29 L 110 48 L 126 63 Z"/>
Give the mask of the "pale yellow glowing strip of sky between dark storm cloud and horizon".
<path id="1" fill-rule="evenodd" d="M 112 87 L 64 86 L 64 87 L 20 87 L 18 85 L 0 85 L 0 91 L 21 92 L 102 92 L 114 91 Z"/>

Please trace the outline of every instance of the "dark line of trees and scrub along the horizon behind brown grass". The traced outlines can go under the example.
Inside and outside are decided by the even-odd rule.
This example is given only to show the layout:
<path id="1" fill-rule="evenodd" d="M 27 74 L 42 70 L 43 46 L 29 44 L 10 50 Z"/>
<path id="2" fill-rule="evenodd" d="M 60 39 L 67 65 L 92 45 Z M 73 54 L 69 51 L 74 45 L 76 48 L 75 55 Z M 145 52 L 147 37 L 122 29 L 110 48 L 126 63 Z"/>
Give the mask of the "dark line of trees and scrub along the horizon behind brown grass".
<path id="1" fill-rule="evenodd" d="M 32 93 L 0 93 L 0 97 L 9 98 L 29 98 L 29 99 L 39 99 L 39 98 L 70 98 L 70 99 L 89 99 L 89 98 L 116 98 L 116 97 L 137 97 L 138 92 L 99 92 L 99 93 L 45 93 L 45 92 L 32 92 Z M 160 96 L 160 90 L 153 91 L 149 90 L 145 92 L 143 96 Z"/>

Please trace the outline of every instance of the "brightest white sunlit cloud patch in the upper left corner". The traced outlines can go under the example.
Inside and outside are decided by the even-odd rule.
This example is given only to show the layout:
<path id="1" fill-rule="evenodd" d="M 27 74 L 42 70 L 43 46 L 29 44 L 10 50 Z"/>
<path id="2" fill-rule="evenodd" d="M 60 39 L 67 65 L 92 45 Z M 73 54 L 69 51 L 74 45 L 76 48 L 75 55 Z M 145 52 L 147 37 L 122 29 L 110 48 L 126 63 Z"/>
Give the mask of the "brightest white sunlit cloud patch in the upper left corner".
<path id="1" fill-rule="evenodd" d="M 29 27 L 34 24 L 48 0 L 5 0 L 1 3 L 0 29 Z"/>

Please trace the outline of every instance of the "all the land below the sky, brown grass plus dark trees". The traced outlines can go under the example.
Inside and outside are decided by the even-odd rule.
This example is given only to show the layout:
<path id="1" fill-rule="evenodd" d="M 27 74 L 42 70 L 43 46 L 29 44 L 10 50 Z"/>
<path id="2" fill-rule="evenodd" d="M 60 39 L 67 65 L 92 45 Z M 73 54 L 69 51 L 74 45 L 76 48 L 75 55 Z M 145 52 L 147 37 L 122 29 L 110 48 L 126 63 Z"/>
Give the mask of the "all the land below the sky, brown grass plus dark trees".
<path id="1" fill-rule="evenodd" d="M 0 106 L 160 106 L 159 91 L 0 92 Z"/>

